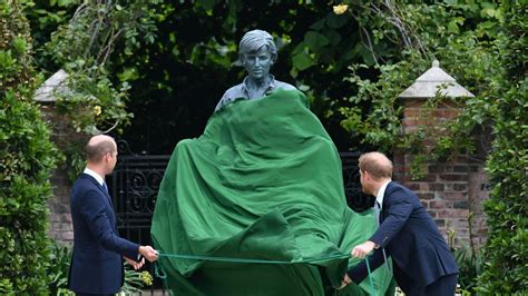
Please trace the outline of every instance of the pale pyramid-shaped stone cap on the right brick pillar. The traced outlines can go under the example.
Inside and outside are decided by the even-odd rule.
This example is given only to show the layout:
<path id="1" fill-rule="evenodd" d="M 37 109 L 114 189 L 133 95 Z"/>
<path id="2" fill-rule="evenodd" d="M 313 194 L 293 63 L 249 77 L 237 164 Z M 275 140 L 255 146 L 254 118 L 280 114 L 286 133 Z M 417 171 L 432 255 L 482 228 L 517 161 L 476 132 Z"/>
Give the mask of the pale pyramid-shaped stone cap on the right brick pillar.
<path id="1" fill-rule="evenodd" d="M 457 83 L 454 78 L 443 71 L 438 60 L 434 60 L 432 67 L 398 97 L 402 99 L 427 99 L 434 98 L 437 93 L 448 98 L 475 97 L 473 93 Z"/>

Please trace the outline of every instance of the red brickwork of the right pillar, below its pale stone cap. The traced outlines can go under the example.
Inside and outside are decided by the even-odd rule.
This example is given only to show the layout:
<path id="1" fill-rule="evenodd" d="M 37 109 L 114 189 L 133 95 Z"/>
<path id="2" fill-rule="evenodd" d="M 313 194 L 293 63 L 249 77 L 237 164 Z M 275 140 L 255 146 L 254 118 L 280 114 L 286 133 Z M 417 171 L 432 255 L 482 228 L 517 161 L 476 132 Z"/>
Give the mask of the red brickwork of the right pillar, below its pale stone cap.
<path id="1" fill-rule="evenodd" d="M 453 102 L 439 103 L 430 110 L 424 107 L 423 99 L 404 99 L 403 106 L 403 129 L 407 134 L 420 126 L 438 127 L 459 111 Z M 472 239 L 479 248 L 486 240 L 481 204 L 488 197 L 488 188 L 482 159 L 483 151 L 477 150 L 475 155 L 462 155 L 453 160 L 428 162 L 427 174 L 413 180 L 410 175 L 412 156 L 397 151 L 393 157 L 394 179 L 417 193 L 446 238 L 448 229 L 454 231 L 453 241 L 450 241 L 454 246 L 469 246 Z"/>

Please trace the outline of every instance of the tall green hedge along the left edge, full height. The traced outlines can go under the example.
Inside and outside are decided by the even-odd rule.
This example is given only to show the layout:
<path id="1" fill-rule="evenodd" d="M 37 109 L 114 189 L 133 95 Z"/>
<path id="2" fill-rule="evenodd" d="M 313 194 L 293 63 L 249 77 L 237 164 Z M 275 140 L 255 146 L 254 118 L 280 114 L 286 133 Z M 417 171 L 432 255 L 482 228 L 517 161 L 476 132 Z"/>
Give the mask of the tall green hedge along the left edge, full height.
<path id="1" fill-rule="evenodd" d="M 29 26 L 18 1 L 0 2 L 0 293 L 48 292 L 47 198 L 57 150 L 31 101 Z"/>

